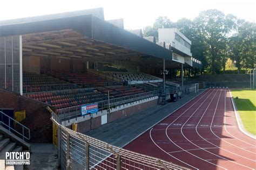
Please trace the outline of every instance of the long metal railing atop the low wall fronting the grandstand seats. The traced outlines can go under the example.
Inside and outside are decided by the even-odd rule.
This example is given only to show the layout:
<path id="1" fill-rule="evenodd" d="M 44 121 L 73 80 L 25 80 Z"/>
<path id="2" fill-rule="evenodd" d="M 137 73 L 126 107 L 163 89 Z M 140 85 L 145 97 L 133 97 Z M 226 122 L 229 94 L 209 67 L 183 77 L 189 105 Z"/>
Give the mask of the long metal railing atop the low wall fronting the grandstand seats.
<path id="1" fill-rule="evenodd" d="M 173 91 L 177 91 L 177 88 L 167 88 L 166 89 L 166 93 L 172 93 Z M 146 93 L 140 93 L 140 94 L 136 94 L 136 95 L 112 98 L 110 100 L 99 101 L 99 102 L 97 102 L 98 109 L 99 109 L 99 111 L 103 111 L 106 109 L 116 108 L 118 105 L 136 102 L 139 100 L 143 100 L 145 98 L 158 96 L 161 93 L 164 93 L 163 89 L 149 91 Z M 87 103 L 87 104 L 92 104 L 92 103 Z M 82 105 L 76 105 L 74 107 L 58 109 L 59 122 L 79 117 L 81 115 L 81 112 L 80 112 L 81 106 Z"/>

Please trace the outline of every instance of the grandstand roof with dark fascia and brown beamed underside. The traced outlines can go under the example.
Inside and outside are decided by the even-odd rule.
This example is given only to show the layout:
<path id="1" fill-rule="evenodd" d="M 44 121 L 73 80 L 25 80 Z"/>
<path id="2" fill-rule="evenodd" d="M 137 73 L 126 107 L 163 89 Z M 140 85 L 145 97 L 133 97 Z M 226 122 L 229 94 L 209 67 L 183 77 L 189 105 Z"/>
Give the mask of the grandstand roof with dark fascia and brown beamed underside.
<path id="1" fill-rule="evenodd" d="M 88 60 L 137 56 L 172 60 L 169 49 L 81 11 L 79 15 L 62 13 L 0 23 L 0 37 L 14 35 L 23 35 L 23 55 L 82 56 Z M 76 52 L 71 52 L 71 48 Z"/>

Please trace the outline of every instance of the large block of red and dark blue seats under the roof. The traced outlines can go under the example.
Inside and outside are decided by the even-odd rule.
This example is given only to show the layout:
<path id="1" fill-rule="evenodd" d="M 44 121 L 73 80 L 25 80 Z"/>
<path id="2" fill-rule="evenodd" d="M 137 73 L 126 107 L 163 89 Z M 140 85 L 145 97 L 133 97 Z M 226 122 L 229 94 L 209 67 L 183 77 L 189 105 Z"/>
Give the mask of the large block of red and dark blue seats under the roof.
<path id="1" fill-rule="evenodd" d="M 108 98 L 108 92 L 110 98 L 145 92 L 144 88 L 122 86 L 91 73 L 53 72 L 48 75 L 35 73 L 23 75 L 23 89 L 27 92 L 24 96 L 47 103 L 57 109 L 104 101 Z M 63 88 L 42 89 L 42 86 L 58 87 L 60 85 Z M 72 86 L 76 88 L 71 89 Z"/>

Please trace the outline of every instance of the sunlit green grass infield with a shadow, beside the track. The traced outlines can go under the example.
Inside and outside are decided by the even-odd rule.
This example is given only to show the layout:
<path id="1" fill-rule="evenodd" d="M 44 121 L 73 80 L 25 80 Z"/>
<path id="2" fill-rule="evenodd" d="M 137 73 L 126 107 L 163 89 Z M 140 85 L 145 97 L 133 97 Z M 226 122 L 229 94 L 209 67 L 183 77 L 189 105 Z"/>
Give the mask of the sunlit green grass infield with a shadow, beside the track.
<path id="1" fill-rule="evenodd" d="M 231 93 L 245 129 L 256 134 L 256 90 L 233 89 Z"/>

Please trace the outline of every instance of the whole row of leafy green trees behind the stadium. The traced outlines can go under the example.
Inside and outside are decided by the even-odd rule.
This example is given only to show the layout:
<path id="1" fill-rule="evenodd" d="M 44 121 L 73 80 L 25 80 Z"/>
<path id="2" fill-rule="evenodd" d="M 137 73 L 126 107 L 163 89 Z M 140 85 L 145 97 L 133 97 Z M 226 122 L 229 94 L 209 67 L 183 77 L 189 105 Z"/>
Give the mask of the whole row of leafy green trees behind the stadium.
<path id="1" fill-rule="evenodd" d="M 176 23 L 158 17 L 153 26 L 144 27 L 143 35 L 158 40 L 159 28 L 172 27 L 192 41 L 191 53 L 202 61 L 206 74 L 225 73 L 231 60 L 237 73 L 255 67 L 255 23 L 212 9 L 200 12 L 193 20 L 181 18 Z"/>

